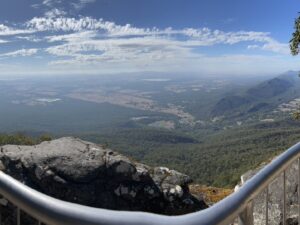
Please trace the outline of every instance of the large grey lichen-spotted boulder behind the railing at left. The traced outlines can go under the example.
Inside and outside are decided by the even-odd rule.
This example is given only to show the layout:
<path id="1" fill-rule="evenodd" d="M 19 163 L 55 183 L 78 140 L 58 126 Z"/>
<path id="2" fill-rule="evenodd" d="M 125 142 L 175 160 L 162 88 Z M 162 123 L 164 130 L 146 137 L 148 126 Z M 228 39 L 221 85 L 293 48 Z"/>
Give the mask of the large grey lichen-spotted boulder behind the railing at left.
<path id="1" fill-rule="evenodd" d="M 47 195 L 93 207 L 168 215 L 207 207 L 189 193 L 187 175 L 71 137 L 2 146 L 0 168 Z"/>

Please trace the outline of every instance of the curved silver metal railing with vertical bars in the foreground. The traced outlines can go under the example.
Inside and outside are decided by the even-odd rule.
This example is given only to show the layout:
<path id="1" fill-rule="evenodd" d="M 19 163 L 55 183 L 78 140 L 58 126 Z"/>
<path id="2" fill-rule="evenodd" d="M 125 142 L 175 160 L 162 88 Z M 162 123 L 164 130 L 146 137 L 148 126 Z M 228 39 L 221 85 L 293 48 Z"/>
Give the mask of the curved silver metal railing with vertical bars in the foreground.
<path id="1" fill-rule="evenodd" d="M 49 225 L 229 225 L 233 224 L 236 219 L 240 225 L 253 225 L 254 199 L 265 192 L 265 221 L 268 224 L 269 185 L 275 178 L 283 175 L 281 223 L 286 225 L 286 170 L 293 162 L 298 163 L 296 182 L 298 183 L 298 212 L 300 213 L 300 143 L 289 148 L 265 166 L 237 192 L 208 209 L 182 216 L 113 211 L 69 203 L 37 192 L 3 172 L 0 172 L 0 194 L 17 206 L 16 223 L 18 225 L 22 224 L 21 211 L 36 218 L 37 224 Z M 298 224 L 300 224 L 299 218 Z"/>

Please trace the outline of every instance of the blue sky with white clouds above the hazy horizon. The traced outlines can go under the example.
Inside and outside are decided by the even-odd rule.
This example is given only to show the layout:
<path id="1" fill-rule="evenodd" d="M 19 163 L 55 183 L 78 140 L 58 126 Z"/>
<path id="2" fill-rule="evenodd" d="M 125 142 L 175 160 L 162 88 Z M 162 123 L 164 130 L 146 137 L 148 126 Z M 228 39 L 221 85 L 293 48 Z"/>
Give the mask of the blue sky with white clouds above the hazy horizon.
<path id="1" fill-rule="evenodd" d="M 0 75 L 300 70 L 299 0 L 1 0 Z"/>

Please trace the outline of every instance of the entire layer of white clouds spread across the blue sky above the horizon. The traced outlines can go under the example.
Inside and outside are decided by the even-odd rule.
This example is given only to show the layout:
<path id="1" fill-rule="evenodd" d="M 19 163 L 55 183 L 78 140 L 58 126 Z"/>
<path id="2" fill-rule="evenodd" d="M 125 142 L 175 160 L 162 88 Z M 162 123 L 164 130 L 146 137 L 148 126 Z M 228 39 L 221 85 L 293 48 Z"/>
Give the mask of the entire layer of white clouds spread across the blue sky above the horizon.
<path id="1" fill-rule="evenodd" d="M 78 0 L 72 2 L 72 7 L 80 10 L 92 2 Z M 49 8 L 45 16 L 22 24 L 0 24 L 0 45 L 8 46 L 4 48 L 8 50 L 0 50 L 0 62 L 9 57 L 35 56 L 46 66 L 43 68 L 66 73 L 254 73 L 266 71 L 274 62 L 274 69 L 278 65 L 282 69 L 297 67 L 293 60 L 287 60 L 288 44 L 280 43 L 268 32 L 118 25 L 91 17 L 68 17 L 60 4 L 61 0 L 44 0 L 33 7 Z M 241 53 L 231 53 L 234 46 Z M 214 54 L 210 54 L 210 49 Z"/>

